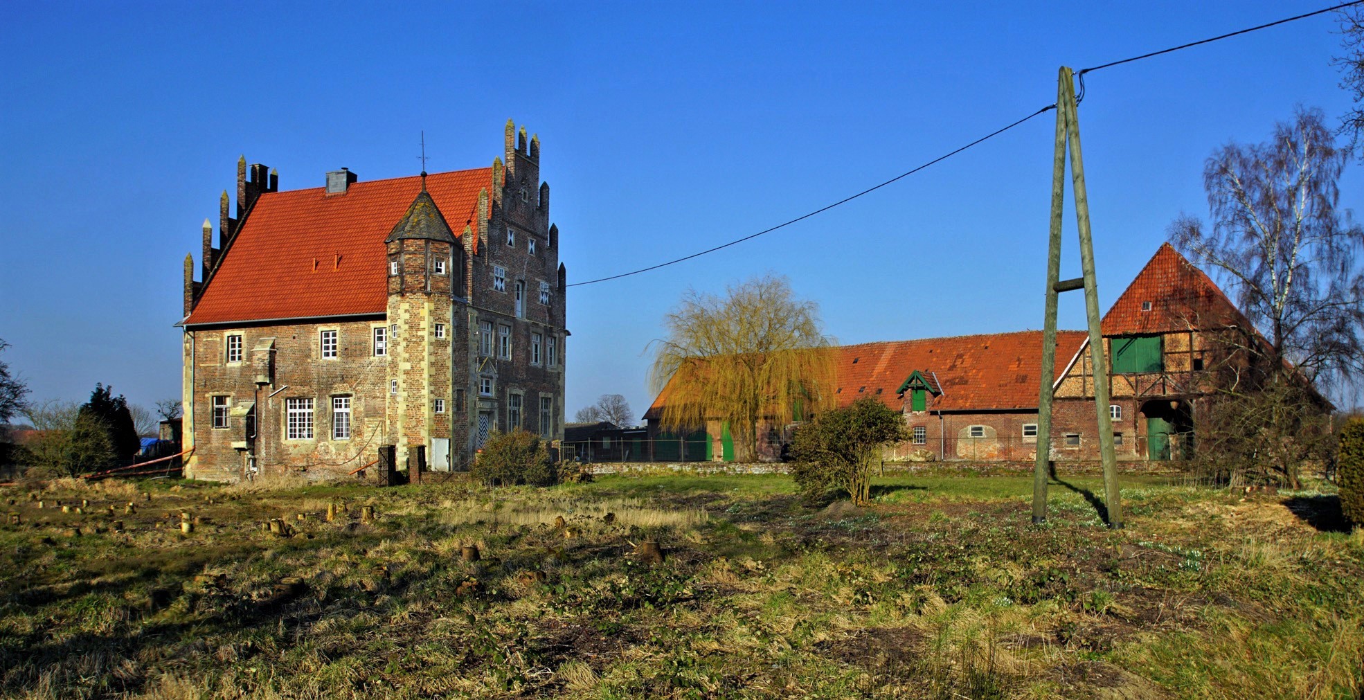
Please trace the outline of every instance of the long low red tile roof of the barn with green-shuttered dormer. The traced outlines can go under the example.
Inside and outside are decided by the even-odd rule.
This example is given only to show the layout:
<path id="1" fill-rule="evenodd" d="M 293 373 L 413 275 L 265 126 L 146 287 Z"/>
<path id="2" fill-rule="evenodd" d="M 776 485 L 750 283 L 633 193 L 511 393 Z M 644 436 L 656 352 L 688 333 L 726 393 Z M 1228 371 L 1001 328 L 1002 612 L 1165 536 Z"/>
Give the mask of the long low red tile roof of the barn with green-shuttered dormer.
<path id="1" fill-rule="evenodd" d="M 1086 336 L 1082 330 L 1056 333 L 1057 377 L 1065 371 Z M 835 396 L 840 407 L 872 396 L 899 411 L 903 400 L 895 392 L 914 370 L 919 370 L 930 381 L 936 375 L 943 388 L 943 394 L 933 404 L 934 411 L 1037 408 L 1041 330 L 863 342 L 833 349 Z M 664 386 L 645 419 L 659 416 L 668 393 Z"/>

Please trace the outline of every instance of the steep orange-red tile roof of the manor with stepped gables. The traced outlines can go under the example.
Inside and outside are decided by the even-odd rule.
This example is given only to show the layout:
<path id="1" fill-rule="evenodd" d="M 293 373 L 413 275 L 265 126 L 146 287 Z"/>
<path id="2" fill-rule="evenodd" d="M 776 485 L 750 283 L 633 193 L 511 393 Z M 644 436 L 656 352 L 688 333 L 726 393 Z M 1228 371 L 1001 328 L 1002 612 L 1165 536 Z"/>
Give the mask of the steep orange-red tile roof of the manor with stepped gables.
<path id="1" fill-rule="evenodd" d="M 479 191 L 491 184 L 491 168 L 427 176 L 456 235 L 466 221 L 477 231 Z M 385 312 L 383 239 L 420 191 L 413 176 L 261 195 L 184 323 Z"/>

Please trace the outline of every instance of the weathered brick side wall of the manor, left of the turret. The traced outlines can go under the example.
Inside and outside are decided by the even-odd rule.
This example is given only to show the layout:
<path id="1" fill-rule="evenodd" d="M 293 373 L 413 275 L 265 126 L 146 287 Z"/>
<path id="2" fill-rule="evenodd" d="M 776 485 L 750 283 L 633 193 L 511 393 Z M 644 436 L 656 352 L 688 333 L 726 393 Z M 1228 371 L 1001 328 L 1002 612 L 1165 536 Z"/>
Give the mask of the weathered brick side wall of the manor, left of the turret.
<path id="1" fill-rule="evenodd" d="M 382 317 L 333 323 L 265 325 L 233 329 L 190 329 L 186 352 L 194 347 L 192 363 L 186 363 L 188 393 L 186 412 L 192 430 L 194 456 L 186 476 L 237 480 L 246 473 L 246 416 L 232 415 L 226 428 L 213 427 L 213 396 L 228 396 L 231 405 L 255 401 L 256 439 L 254 449 L 261 475 L 291 468 L 351 471 L 372 458 L 385 443 L 387 358 L 372 355 L 372 327 Z M 338 334 L 338 358 L 321 358 L 322 330 Z M 241 336 L 243 359 L 226 362 L 226 336 Z M 256 386 L 252 349 L 274 338 L 273 381 Z M 192 383 L 191 383 L 192 382 Z M 258 390 L 259 389 L 259 390 Z M 276 390 L 282 389 L 270 397 Z M 331 439 L 331 397 L 351 396 L 351 438 Z M 311 397 L 312 439 L 288 439 L 285 400 Z"/>

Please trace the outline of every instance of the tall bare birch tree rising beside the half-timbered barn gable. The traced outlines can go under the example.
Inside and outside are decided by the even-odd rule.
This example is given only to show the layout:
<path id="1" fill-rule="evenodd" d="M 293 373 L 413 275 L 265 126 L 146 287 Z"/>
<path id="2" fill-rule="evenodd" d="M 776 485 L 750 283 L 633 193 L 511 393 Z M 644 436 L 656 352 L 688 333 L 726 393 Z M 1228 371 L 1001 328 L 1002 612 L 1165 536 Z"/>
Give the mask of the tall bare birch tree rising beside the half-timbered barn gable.
<path id="1" fill-rule="evenodd" d="M 1270 368 L 1289 366 L 1309 382 L 1364 371 L 1364 231 L 1338 207 L 1348 153 L 1319 109 L 1299 109 L 1266 143 L 1229 143 L 1203 171 L 1211 227 L 1189 216 L 1170 237 L 1224 282 L 1269 340 Z"/>

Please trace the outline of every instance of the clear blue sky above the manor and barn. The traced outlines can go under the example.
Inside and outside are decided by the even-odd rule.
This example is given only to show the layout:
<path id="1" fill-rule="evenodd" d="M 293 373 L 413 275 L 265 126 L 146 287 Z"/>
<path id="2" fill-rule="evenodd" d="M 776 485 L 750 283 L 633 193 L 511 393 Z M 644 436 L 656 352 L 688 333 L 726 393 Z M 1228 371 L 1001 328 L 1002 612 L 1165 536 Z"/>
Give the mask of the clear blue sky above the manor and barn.
<path id="1" fill-rule="evenodd" d="M 1247 3 L 0 4 L 0 338 L 33 397 L 179 396 L 180 270 L 239 154 L 292 190 L 342 165 L 486 166 L 540 135 L 569 281 L 840 199 L 1050 104 L 1083 68 L 1316 10 Z M 1203 162 L 1349 96 L 1330 16 L 1091 74 L 1080 112 L 1106 308 Z M 1050 115 L 850 205 L 569 291 L 569 412 L 652 400 L 645 345 L 693 285 L 790 277 L 840 342 L 1039 327 Z M 1364 203 L 1356 161 L 1342 205 Z M 1068 216 L 1063 276 L 1079 273 Z M 1083 327 L 1079 295 L 1061 323 Z"/>

